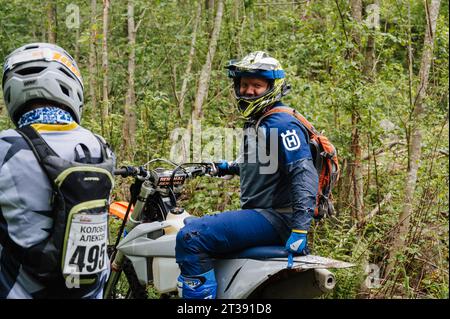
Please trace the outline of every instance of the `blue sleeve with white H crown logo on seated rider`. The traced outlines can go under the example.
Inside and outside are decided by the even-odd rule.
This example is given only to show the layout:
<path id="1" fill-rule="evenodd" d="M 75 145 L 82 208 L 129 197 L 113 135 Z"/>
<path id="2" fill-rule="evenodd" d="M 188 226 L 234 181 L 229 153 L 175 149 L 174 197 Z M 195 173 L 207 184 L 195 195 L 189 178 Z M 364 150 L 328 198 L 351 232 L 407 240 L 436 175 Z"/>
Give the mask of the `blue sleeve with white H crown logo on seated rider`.
<path id="1" fill-rule="evenodd" d="M 314 167 L 306 129 L 293 116 L 272 114 L 266 130 L 278 130 L 278 152 L 281 170 L 288 176 L 294 213 L 291 228 L 308 230 L 316 207 L 319 177 Z"/>

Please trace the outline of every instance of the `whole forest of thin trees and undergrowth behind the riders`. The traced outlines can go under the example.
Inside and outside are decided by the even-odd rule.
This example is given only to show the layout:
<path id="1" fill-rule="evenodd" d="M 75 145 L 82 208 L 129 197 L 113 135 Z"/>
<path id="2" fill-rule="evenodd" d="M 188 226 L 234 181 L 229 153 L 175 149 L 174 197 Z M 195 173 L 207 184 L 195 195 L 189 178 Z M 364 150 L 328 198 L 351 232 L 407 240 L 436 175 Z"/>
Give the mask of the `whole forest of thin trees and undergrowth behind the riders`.
<path id="1" fill-rule="evenodd" d="M 309 245 L 357 266 L 335 272 L 327 298 L 448 298 L 448 30 L 440 0 L 0 0 L 0 60 L 29 42 L 65 48 L 84 78 L 82 125 L 119 166 L 169 158 L 195 123 L 242 127 L 227 61 L 279 59 L 284 102 L 338 149 L 337 215 Z M 183 205 L 236 209 L 239 181 L 194 180 Z"/>

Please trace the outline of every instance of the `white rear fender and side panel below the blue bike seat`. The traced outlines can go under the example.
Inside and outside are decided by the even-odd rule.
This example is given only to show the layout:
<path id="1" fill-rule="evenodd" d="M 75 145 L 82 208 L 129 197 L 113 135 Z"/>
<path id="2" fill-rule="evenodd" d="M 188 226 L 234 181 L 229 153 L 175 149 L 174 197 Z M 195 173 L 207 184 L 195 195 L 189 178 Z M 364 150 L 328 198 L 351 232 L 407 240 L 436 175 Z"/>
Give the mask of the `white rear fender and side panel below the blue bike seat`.
<path id="1" fill-rule="evenodd" d="M 327 268 L 352 267 L 350 263 L 320 256 L 299 256 L 287 268 L 287 259 L 218 259 L 214 268 L 217 298 L 314 298 L 331 291 L 336 283 Z"/>

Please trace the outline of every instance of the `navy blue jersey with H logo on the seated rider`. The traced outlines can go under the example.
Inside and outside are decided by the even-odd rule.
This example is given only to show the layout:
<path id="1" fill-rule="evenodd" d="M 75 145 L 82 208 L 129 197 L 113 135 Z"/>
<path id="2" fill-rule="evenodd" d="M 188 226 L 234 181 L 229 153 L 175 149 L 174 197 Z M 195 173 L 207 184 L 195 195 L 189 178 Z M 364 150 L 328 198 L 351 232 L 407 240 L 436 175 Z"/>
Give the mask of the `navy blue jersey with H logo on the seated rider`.
<path id="1" fill-rule="evenodd" d="M 242 208 L 262 209 L 282 237 L 291 229 L 308 230 L 319 179 L 306 129 L 286 113 L 264 118 L 258 133 L 255 126 L 245 127 L 237 160 Z"/>

